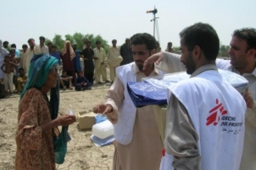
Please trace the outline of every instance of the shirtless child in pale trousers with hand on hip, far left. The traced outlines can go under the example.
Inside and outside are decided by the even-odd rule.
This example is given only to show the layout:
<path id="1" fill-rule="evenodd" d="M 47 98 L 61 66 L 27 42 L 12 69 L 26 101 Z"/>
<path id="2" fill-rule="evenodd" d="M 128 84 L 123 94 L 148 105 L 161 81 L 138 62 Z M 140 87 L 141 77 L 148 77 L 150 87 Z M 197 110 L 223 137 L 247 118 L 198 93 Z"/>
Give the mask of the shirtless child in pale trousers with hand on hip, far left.
<path id="1" fill-rule="evenodd" d="M 5 67 L 5 70 L 3 70 Z M 9 55 L 5 56 L 5 63 L 1 66 L 1 70 L 4 72 L 4 86 L 6 93 L 10 90 L 10 93 L 13 92 L 13 70 L 16 69 L 18 65 L 11 62 Z"/>

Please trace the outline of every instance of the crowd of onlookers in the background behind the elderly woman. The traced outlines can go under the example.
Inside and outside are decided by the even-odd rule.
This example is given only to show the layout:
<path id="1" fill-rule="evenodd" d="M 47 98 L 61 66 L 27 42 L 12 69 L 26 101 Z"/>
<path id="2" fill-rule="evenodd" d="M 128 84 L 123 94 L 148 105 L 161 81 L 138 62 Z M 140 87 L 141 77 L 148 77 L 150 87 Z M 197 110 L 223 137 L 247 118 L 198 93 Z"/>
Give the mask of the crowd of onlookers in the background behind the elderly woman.
<path id="1" fill-rule="evenodd" d="M 55 57 L 58 64 L 62 66 L 63 72 L 60 75 L 60 87 L 64 90 L 91 89 L 94 81 L 96 84 L 113 83 L 116 67 L 133 62 L 130 39 L 118 47 L 117 41 L 112 40 L 112 46 L 108 53 L 101 47 L 101 42 L 96 41 L 96 48 L 91 48 L 91 42 L 83 39 L 83 50 L 77 49 L 77 44 L 65 41 L 63 48 L 57 51 L 57 46 L 52 42 L 45 45 L 45 37 L 40 36 L 40 44 L 36 45 L 33 38 L 28 39 L 28 45 L 23 44 L 22 50 L 16 49 L 15 44 L 9 46 L 8 41 L 0 42 L 0 86 L 1 95 L 4 97 L 9 92 L 20 93 L 27 81 L 30 60 L 34 54 L 45 54 Z M 11 48 L 10 48 L 11 47 Z M 80 62 L 80 59 L 83 62 Z M 106 67 L 110 69 L 110 81 L 107 79 Z M 81 77 L 81 75 L 83 76 Z M 81 80 L 83 81 L 81 82 Z M 86 84 L 86 87 L 84 87 Z M 82 87 L 80 87 L 82 86 Z M 15 89 L 14 89 L 15 87 Z"/>

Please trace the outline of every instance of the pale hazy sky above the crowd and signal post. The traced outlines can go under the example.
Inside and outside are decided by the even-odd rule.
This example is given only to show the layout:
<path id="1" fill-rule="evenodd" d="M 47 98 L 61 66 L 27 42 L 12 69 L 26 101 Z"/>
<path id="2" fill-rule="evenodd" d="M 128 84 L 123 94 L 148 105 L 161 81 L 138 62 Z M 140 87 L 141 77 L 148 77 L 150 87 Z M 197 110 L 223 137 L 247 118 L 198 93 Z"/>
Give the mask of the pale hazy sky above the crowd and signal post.
<path id="1" fill-rule="evenodd" d="M 147 32 L 153 35 L 153 15 L 158 9 L 160 45 L 179 46 L 179 32 L 196 22 L 211 24 L 222 44 L 229 45 L 231 34 L 243 27 L 256 28 L 255 0 L 0 0 L 0 39 L 17 48 L 39 36 L 55 34 L 100 34 L 111 44 Z"/>

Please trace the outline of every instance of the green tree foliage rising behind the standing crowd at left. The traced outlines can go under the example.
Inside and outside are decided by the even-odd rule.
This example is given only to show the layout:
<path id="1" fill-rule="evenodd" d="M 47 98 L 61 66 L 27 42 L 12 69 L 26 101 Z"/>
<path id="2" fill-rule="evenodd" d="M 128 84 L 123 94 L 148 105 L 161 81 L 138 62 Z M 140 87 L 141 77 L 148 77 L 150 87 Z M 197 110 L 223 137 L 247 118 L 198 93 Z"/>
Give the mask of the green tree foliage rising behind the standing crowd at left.
<path id="1" fill-rule="evenodd" d="M 57 46 L 57 50 L 61 50 L 63 48 L 63 45 L 64 45 L 66 40 L 69 40 L 71 42 L 71 44 L 76 43 L 77 44 L 77 49 L 83 50 L 83 45 L 84 45 L 83 39 L 84 38 L 87 38 L 88 41 L 91 41 L 92 49 L 96 47 L 96 41 L 97 40 L 101 41 L 101 47 L 104 48 L 104 50 L 107 52 L 107 50 L 108 50 L 107 41 L 104 40 L 100 35 L 96 35 L 96 36 L 94 36 L 93 34 L 83 35 L 82 33 L 76 32 L 73 35 L 66 34 L 65 35 L 65 40 L 63 40 L 61 35 L 55 34 L 52 42 L 53 42 L 54 45 Z M 51 40 L 47 39 L 45 44 L 47 44 L 50 41 Z"/>

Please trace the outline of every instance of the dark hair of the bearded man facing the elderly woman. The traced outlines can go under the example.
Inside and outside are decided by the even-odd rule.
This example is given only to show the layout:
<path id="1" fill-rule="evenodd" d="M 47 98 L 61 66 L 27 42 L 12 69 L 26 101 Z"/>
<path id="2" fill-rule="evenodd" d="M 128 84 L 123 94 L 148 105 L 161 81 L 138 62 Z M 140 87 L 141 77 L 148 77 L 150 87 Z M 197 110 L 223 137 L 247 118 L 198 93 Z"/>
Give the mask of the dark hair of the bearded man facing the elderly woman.
<path id="1" fill-rule="evenodd" d="M 131 37 L 132 45 L 145 44 L 148 50 L 156 49 L 156 39 L 148 33 L 138 33 Z"/>

